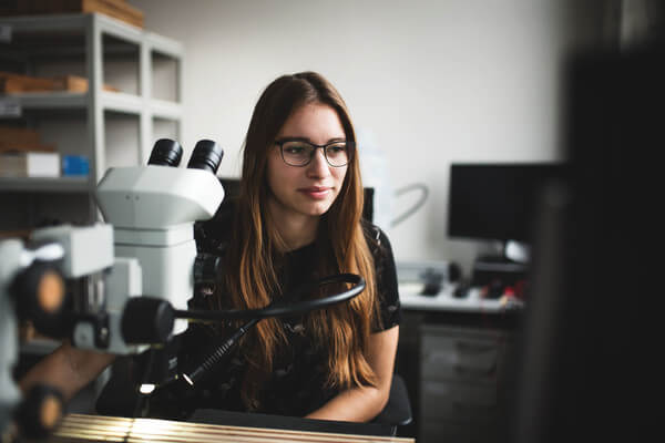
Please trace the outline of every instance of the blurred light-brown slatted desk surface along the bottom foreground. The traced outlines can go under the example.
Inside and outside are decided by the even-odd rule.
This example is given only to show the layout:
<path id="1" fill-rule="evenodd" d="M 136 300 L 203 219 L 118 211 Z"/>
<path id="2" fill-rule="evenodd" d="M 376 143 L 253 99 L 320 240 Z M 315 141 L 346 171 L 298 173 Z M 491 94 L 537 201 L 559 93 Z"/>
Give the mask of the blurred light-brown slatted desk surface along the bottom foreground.
<path id="1" fill-rule="evenodd" d="M 127 441 L 161 441 L 161 442 L 219 442 L 219 443 L 332 443 L 332 442 L 393 442 L 415 443 L 412 439 L 335 434 L 327 432 L 273 430 L 260 427 L 227 426 L 176 422 L 153 419 L 125 419 L 117 416 L 69 414 L 61 425 L 48 439 L 51 443 L 83 443 L 83 442 L 127 442 Z"/>

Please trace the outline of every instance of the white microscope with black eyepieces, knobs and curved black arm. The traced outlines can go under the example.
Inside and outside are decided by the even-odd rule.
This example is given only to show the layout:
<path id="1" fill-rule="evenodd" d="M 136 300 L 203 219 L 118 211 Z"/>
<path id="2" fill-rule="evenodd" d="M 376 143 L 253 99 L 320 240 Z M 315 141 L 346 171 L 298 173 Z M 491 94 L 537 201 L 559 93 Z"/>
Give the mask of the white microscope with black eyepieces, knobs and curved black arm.
<path id="1" fill-rule="evenodd" d="M 69 338 L 76 348 L 119 356 L 165 349 L 188 321 L 247 320 L 198 368 L 182 374 L 193 385 L 260 319 L 320 309 L 364 290 L 362 277 L 341 274 L 315 282 L 313 289 L 352 285 L 324 298 L 277 300 L 254 310 L 188 310 L 197 278 L 222 271 L 215 257 L 211 261 L 209 256 L 197 255 L 194 223 L 211 219 L 222 204 L 224 189 L 216 172 L 223 151 L 202 140 L 186 168 L 178 167 L 182 155 L 177 142 L 162 138 L 146 166 L 106 171 L 95 190 L 105 223 L 37 229 L 29 245 L 0 241 L 0 433 L 17 421 L 25 434 L 48 434 L 62 410 L 62 395 L 54 389 L 38 387 L 37 394 L 23 398 L 12 380 L 18 320 L 32 320 L 39 332 Z M 76 279 L 88 279 L 93 290 L 84 303 L 72 307 L 65 288 Z M 158 365 L 154 379 L 145 378 L 143 393 L 178 377 L 173 360 Z M 49 414 L 40 411 L 49 408 L 58 413 L 44 420 Z"/>

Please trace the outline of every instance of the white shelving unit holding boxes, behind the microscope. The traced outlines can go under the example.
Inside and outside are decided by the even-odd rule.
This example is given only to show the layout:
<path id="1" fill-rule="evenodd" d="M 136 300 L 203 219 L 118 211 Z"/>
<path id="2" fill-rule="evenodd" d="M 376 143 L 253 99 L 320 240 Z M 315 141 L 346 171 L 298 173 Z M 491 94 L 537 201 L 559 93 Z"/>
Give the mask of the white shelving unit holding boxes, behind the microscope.
<path id="1" fill-rule="evenodd" d="M 52 217 L 44 200 L 63 208 L 54 218 L 93 222 L 92 192 L 106 168 L 145 163 L 155 140 L 180 138 L 183 45 L 98 13 L 0 18 L 0 29 L 9 35 L 0 41 L 0 71 L 89 81 L 85 93 L 0 94 L 0 110 L 20 113 L 0 115 L 0 125 L 37 128 L 61 154 L 86 155 L 90 162 L 86 178 L 0 178 L 0 230 L 31 228 L 39 216 Z M 120 92 L 106 91 L 106 84 Z M 83 210 L 81 198 L 69 199 L 85 194 Z M 80 216 L 68 219 L 75 213 Z"/>

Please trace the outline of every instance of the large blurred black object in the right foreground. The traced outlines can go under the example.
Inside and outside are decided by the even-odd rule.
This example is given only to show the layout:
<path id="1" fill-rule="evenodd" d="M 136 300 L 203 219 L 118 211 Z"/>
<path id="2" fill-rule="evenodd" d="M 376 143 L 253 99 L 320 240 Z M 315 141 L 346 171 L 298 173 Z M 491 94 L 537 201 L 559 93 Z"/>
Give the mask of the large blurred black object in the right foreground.
<path id="1" fill-rule="evenodd" d="M 567 68 L 572 176 L 542 199 L 509 441 L 648 441 L 662 434 L 665 51 Z"/>

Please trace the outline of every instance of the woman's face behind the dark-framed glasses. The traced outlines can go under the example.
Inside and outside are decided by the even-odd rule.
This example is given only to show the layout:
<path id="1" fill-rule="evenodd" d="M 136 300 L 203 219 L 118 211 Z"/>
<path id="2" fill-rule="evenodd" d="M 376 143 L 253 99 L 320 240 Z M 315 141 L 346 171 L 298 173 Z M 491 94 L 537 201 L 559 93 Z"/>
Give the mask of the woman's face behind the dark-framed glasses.
<path id="1" fill-rule="evenodd" d="M 337 112 L 321 103 L 305 104 L 286 121 L 276 140 L 301 138 L 317 145 L 346 140 Z M 348 166 L 328 164 L 323 150 L 316 150 L 306 166 L 284 163 L 279 146 L 268 151 L 267 177 L 272 206 L 284 216 L 320 216 L 332 203 L 344 183 Z"/>

